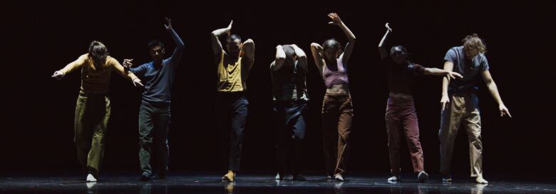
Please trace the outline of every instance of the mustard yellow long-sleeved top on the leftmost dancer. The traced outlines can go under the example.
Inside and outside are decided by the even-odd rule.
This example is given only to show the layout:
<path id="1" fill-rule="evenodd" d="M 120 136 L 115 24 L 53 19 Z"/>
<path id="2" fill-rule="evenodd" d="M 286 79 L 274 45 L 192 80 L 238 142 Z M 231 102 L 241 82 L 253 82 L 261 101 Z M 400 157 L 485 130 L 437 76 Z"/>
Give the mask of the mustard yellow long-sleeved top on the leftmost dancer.
<path id="1" fill-rule="evenodd" d="M 79 56 L 76 61 L 69 63 L 60 71 L 66 75 L 67 73 L 71 73 L 78 68 L 81 68 L 81 90 L 85 92 L 108 92 L 110 86 L 110 74 L 112 71 L 116 71 L 120 73 L 120 75 L 132 81 L 137 78 L 137 76 L 130 71 L 126 71 L 125 68 L 123 68 L 117 60 L 115 60 L 115 58 L 110 56 L 106 57 L 106 62 L 102 66 L 94 66 L 93 59 L 89 57 L 88 53 Z"/>

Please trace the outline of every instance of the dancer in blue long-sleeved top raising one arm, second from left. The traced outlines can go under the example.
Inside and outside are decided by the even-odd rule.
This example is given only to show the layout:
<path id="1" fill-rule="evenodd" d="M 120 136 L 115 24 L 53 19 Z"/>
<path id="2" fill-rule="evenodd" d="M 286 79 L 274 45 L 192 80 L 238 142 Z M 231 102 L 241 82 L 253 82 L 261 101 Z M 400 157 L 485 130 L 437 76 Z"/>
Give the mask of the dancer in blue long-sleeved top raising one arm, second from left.
<path id="1" fill-rule="evenodd" d="M 165 173 L 168 171 L 170 92 L 174 82 L 175 69 L 182 58 L 184 44 L 172 28 L 170 19 L 166 18 L 166 22 L 164 27 L 172 35 L 176 44 L 170 58 L 164 59 L 164 44 L 154 40 L 148 44 L 150 58 L 153 61 L 144 63 L 137 68 L 131 68 L 133 59 L 124 59 L 123 61 L 123 66 L 130 68 L 131 72 L 145 81 L 143 100 L 139 108 L 139 164 L 143 170 L 140 180 L 150 180 L 155 175 L 158 178 L 165 178 Z M 153 168 L 150 166 L 153 136 L 158 155 L 158 173 L 153 173 Z"/>

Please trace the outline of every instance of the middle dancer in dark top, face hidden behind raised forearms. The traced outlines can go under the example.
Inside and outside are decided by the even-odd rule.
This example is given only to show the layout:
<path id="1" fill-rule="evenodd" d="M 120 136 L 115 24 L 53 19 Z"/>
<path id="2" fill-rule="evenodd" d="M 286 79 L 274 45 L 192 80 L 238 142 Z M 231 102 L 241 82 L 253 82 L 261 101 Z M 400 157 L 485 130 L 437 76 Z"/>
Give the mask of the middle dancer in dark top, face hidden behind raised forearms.
<path id="1" fill-rule="evenodd" d="M 293 164 L 293 180 L 302 176 L 303 142 L 307 119 L 307 56 L 297 45 L 276 46 L 276 59 L 270 63 L 277 128 L 277 180 L 284 180 L 287 163 Z M 292 148 L 292 157 L 288 157 Z M 289 159 L 289 160 L 288 160 Z"/>

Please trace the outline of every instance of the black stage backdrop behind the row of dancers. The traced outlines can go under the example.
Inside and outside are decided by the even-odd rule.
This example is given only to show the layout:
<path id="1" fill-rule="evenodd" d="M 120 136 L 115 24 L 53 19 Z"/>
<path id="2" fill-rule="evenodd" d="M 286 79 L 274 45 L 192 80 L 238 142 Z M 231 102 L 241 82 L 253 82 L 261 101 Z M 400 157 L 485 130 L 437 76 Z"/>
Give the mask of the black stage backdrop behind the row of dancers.
<path id="1" fill-rule="evenodd" d="M 73 116 L 79 71 L 63 80 L 54 71 L 86 53 L 93 40 L 103 41 L 111 56 L 150 60 L 147 43 L 174 44 L 163 28 L 164 17 L 185 42 L 173 86 L 170 169 L 224 172 L 215 128 L 215 76 L 210 32 L 234 20 L 232 33 L 253 39 L 255 63 L 249 74 L 249 117 L 244 133 L 244 172 L 274 172 L 274 126 L 269 64 L 277 44 L 297 44 L 309 59 L 309 123 L 305 167 L 324 172 L 320 108 L 324 84 L 309 50 L 312 42 L 336 38 L 346 43 L 329 12 L 357 37 L 349 61 L 354 131 L 349 172 L 388 173 L 384 113 L 386 72 L 377 44 L 389 22 L 388 46 L 401 44 L 411 59 L 442 68 L 448 48 L 478 33 L 488 46 L 490 72 L 513 118 L 500 118 L 498 105 L 483 83 L 479 91 L 483 122 L 485 175 L 556 173 L 556 70 L 552 61 L 552 1 L 66 1 L 14 5 L 4 14 L 1 77 L 0 170 L 4 173 L 70 170 L 79 172 L 73 143 Z M 10 7 L 10 6 L 9 6 Z M 7 52 L 6 52 L 7 51 Z M 112 115 L 108 124 L 103 171 L 139 172 L 138 108 L 140 91 L 113 73 Z M 439 168 L 438 128 L 441 78 L 416 80 L 414 92 L 425 168 Z M 402 168 L 411 172 L 405 142 Z M 453 170 L 468 174 L 464 130 L 455 142 Z"/>

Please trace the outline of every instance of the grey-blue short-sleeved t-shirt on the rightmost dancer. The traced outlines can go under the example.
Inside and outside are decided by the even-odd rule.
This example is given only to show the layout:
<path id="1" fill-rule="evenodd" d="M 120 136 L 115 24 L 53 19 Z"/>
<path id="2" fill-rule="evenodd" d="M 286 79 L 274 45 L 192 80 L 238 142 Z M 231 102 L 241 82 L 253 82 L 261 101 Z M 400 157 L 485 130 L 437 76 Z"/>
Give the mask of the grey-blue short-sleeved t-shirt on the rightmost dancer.
<path id="1" fill-rule="evenodd" d="M 480 71 L 488 70 L 488 61 L 483 53 L 478 54 L 469 60 L 465 56 L 463 46 L 455 46 L 450 48 L 444 56 L 444 61 L 453 63 L 453 71 L 460 73 L 463 78 L 452 79 L 448 85 L 450 93 L 475 92 L 478 90 L 478 82 L 480 81 Z"/>

